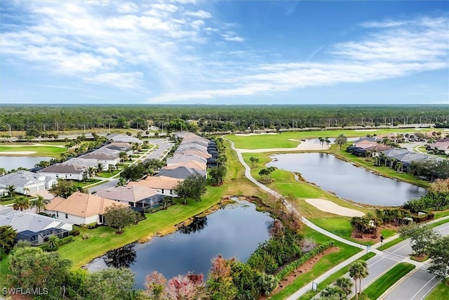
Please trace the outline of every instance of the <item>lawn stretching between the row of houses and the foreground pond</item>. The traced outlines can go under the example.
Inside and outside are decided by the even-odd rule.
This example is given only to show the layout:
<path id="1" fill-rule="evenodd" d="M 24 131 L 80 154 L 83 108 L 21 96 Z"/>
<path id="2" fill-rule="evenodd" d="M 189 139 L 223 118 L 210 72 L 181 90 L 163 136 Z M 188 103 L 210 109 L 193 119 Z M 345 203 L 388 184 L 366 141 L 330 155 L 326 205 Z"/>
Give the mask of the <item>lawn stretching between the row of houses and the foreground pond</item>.
<path id="1" fill-rule="evenodd" d="M 140 221 L 137 225 L 125 228 L 122 235 L 116 235 L 113 228 L 100 226 L 87 230 L 90 235 L 88 240 L 82 240 L 81 235 L 76 237 L 75 242 L 60 247 L 59 252 L 65 259 L 74 262 L 73 267 L 79 268 L 95 257 L 105 254 L 110 249 L 123 247 L 130 242 L 135 242 L 143 237 L 151 236 L 157 232 L 163 232 L 170 226 L 181 223 L 191 216 L 200 214 L 214 204 L 220 202 L 225 195 L 258 195 L 265 197 L 248 179 L 243 178 L 243 170 L 239 164 L 235 152 L 228 147 L 227 157 L 230 172 L 227 174 L 225 184 L 219 187 L 208 187 L 201 202 L 188 201 L 187 205 L 175 204 L 166 210 L 155 214 L 147 214 L 147 219 Z M 86 230 L 83 228 L 83 230 Z"/>

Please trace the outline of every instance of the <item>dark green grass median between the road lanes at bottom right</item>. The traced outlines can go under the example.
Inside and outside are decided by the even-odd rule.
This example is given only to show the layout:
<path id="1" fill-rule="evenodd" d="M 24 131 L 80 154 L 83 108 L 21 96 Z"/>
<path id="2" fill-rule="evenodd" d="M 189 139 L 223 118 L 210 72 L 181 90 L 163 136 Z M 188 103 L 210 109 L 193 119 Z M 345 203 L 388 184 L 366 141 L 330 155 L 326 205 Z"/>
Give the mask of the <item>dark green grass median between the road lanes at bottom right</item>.
<path id="1" fill-rule="evenodd" d="M 411 263 L 398 263 L 391 268 L 387 273 L 380 276 L 375 282 L 370 284 L 369 287 L 363 290 L 368 295 L 370 300 L 379 298 L 391 285 L 394 285 L 396 281 L 403 278 L 407 273 L 415 268 L 415 265 Z"/>

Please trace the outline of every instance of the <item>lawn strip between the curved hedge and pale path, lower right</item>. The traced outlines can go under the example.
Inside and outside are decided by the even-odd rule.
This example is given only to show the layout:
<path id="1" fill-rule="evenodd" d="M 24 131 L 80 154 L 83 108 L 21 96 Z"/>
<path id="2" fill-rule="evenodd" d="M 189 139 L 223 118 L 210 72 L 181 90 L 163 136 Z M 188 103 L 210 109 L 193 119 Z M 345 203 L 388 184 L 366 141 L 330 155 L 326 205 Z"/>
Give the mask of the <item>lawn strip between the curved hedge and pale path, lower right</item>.
<path id="1" fill-rule="evenodd" d="M 311 230 L 308 227 L 305 228 L 305 234 L 307 235 L 307 237 L 311 237 L 319 243 L 328 242 L 329 240 L 331 240 L 326 235 Z M 318 262 L 314 264 L 313 268 L 309 272 L 297 277 L 295 281 L 293 281 L 285 289 L 281 290 L 281 292 L 277 294 L 274 294 L 273 296 L 270 296 L 269 299 L 286 299 L 286 297 L 296 292 L 297 289 L 300 289 L 301 287 L 304 287 L 304 285 L 307 285 L 309 282 L 311 282 L 311 280 L 314 280 L 314 278 L 317 278 L 323 273 L 326 273 L 328 270 L 330 270 L 330 268 L 337 266 L 337 264 L 345 261 L 346 259 L 349 259 L 349 257 L 361 251 L 360 248 L 352 247 L 337 241 L 335 241 L 335 246 L 340 248 L 339 252 L 334 252 L 323 256 Z"/>

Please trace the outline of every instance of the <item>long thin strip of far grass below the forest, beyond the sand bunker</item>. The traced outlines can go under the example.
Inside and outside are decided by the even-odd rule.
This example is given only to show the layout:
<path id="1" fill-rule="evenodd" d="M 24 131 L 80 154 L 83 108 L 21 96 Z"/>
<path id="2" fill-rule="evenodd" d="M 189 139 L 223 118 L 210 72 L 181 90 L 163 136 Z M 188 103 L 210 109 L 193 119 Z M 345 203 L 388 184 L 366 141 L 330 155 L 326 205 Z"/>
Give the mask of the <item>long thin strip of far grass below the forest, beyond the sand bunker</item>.
<path id="1" fill-rule="evenodd" d="M 422 129 L 422 131 L 435 131 L 436 129 Z M 337 137 L 343 133 L 347 137 L 366 136 L 369 134 L 386 134 L 386 133 L 408 133 L 415 132 L 413 129 L 378 129 L 372 132 L 363 132 L 355 130 L 326 130 L 326 131 L 288 131 L 276 134 L 260 134 L 255 136 L 236 136 L 227 135 L 226 138 L 234 141 L 236 148 L 242 149 L 267 149 L 267 148 L 294 148 L 304 138 L 318 138 L 318 137 Z M 289 141 L 289 139 L 298 141 Z"/>

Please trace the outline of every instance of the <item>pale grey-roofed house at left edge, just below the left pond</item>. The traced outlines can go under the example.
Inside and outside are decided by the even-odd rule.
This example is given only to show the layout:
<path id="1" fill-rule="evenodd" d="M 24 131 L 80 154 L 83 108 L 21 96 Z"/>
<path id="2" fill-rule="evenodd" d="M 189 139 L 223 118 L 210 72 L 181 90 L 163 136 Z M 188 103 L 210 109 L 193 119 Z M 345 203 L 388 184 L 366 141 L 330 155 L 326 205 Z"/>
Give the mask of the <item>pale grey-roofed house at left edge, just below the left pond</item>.
<path id="1" fill-rule="evenodd" d="M 20 170 L 15 173 L 0 176 L 0 188 L 15 186 L 15 192 L 20 194 L 31 194 L 50 188 L 55 180 L 46 178 L 45 174 L 36 174 L 30 171 Z M 24 189 L 28 188 L 27 191 Z"/>

